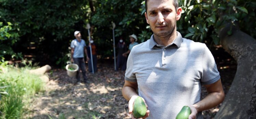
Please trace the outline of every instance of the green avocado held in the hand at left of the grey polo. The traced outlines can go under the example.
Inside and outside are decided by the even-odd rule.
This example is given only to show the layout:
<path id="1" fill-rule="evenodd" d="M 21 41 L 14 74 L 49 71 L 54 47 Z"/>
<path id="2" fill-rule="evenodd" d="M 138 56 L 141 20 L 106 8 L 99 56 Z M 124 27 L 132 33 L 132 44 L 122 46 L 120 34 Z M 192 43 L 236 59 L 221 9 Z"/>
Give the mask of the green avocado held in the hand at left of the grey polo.
<path id="1" fill-rule="evenodd" d="M 133 103 L 132 114 L 135 118 L 140 118 L 146 115 L 147 107 L 140 96 Z"/>

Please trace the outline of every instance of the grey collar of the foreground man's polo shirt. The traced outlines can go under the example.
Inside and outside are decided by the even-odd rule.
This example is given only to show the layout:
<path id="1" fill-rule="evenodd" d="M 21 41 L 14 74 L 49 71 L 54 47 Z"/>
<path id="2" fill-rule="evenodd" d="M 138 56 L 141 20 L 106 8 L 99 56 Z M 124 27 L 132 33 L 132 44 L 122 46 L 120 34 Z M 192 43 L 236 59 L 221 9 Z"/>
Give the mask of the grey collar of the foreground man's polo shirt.
<path id="1" fill-rule="evenodd" d="M 177 37 L 174 40 L 173 44 L 175 44 L 178 48 L 180 48 L 180 45 L 181 45 L 181 43 L 183 41 L 183 38 L 182 38 L 180 32 L 178 32 L 178 31 L 176 31 L 176 32 L 177 32 Z M 153 34 L 150 37 L 149 48 L 152 49 L 155 45 L 157 45 L 157 43 L 154 40 L 154 34 Z"/>

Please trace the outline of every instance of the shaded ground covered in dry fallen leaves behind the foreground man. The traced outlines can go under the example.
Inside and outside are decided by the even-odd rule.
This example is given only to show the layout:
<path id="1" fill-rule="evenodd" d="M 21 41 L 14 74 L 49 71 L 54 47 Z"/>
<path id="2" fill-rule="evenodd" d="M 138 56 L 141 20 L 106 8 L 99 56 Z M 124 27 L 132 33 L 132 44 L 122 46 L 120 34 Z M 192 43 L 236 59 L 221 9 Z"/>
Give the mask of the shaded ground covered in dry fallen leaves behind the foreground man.
<path id="1" fill-rule="evenodd" d="M 225 93 L 232 83 L 236 63 L 229 56 L 216 57 Z M 221 53 L 221 55 L 225 55 Z M 222 57 L 222 58 L 220 58 Z M 224 58 L 223 58 L 224 57 Z M 88 66 L 88 65 L 87 65 Z M 88 73 L 89 83 L 75 84 L 76 79 L 68 77 L 66 70 L 53 69 L 46 91 L 35 97 L 30 103 L 26 117 L 34 119 L 129 119 L 128 101 L 121 89 L 124 84 L 125 71 L 114 71 L 112 65 L 98 64 L 98 72 Z M 207 92 L 202 88 L 201 97 Z M 221 106 L 221 104 L 220 104 Z M 205 119 L 212 119 L 219 106 L 203 111 Z"/>

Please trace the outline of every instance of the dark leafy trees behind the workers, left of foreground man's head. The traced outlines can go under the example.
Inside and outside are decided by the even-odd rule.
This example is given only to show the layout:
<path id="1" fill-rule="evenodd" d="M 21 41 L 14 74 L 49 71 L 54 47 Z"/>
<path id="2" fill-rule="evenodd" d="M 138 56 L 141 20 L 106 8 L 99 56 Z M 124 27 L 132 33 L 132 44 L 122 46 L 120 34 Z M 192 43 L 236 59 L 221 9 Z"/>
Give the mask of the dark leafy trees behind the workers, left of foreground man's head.
<path id="1" fill-rule="evenodd" d="M 141 17 L 142 1 L 0 0 L 0 22 L 4 26 L 8 22 L 13 24 L 13 30 L 19 35 L 10 47 L 14 53 L 31 54 L 41 63 L 65 65 L 69 59 L 69 44 L 74 39 L 73 32 L 81 31 L 82 38 L 88 42 L 87 23 L 91 24 L 90 34 L 102 57 L 113 54 L 112 22 L 117 26 L 117 38 L 128 39 L 129 35 L 136 34 L 143 41 L 149 39 L 150 30 L 145 29 L 147 24 Z"/>

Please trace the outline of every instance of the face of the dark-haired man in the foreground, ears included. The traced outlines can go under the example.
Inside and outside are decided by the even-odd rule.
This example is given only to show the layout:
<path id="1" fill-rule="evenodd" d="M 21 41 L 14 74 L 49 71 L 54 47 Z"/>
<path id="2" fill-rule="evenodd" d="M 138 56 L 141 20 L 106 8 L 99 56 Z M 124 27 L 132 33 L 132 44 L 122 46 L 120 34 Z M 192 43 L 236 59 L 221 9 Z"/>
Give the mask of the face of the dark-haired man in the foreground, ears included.
<path id="1" fill-rule="evenodd" d="M 181 8 L 177 13 L 172 0 L 148 0 L 146 21 L 158 37 L 167 37 L 176 31 L 176 21 L 180 19 Z"/>

